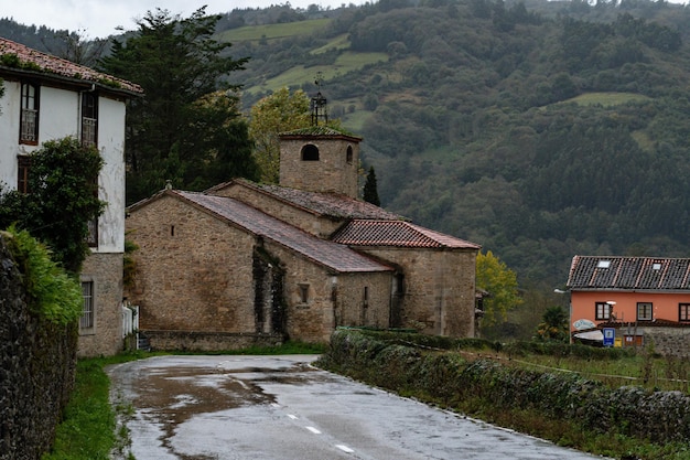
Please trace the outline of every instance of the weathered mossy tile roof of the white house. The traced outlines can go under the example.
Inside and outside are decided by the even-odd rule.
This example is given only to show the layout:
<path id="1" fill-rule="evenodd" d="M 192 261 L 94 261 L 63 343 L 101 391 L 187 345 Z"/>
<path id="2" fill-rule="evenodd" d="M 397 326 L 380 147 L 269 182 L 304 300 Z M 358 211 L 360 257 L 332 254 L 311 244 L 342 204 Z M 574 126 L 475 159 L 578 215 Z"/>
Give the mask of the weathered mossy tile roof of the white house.
<path id="1" fill-rule="evenodd" d="M 34 68 L 31 65 L 36 66 L 43 74 L 58 76 L 73 81 L 86 81 L 95 83 L 104 88 L 123 92 L 130 94 L 143 94 L 141 86 L 128 82 L 126 79 L 117 78 L 111 75 L 107 75 L 100 72 L 96 72 L 93 68 L 84 65 L 75 64 L 67 60 L 55 57 L 47 53 L 33 50 L 29 46 L 13 42 L 8 39 L 0 38 L 0 55 L 13 54 L 19 57 L 19 61 L 24 66 L 9 67 L 7 64 L 0 65 L 0 68 L 12 69 L 15 72 L 32 72 Z M 30 66 L 26 66 L 30 64 Z"/>

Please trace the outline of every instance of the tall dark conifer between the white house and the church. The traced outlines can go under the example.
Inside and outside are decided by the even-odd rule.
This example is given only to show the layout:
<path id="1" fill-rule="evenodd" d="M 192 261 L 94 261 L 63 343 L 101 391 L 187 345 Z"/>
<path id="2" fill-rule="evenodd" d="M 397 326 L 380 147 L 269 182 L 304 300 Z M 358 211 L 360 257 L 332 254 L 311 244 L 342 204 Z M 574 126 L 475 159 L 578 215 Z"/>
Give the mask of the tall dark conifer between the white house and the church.
<path id="1" fill-rule="evenodd" d="M 100 62 L 105 72 L 138 83 L 145 94 L 127 111 L 130 203 L 162 189 L 168 179 L 187 189 L 208 183 L 209 178 L 198 174 L 215 171 L 223 157 L 248 168 L 230 168 L 236 175 L 254 179 L 256 168 L 246 159 L 248 135 L 238 105 L 229 100 L 235 96 L 216 98 L 218 105 L 212 108 L 203 103 L 218 89 L 237 89 L 227 84 L 227 75 L 248 61 L 231 58 L 227 55 L 231 44 L 213 39 L 219 19 L 206 15 L 205 7 L 187 19 L 168 10 L 149 11 L 137 22 L 137 33 L 125 42 L 114 40 L 111 55 Z M 209 111 L 227 118 L 211 124 L 204 119 Z"/>

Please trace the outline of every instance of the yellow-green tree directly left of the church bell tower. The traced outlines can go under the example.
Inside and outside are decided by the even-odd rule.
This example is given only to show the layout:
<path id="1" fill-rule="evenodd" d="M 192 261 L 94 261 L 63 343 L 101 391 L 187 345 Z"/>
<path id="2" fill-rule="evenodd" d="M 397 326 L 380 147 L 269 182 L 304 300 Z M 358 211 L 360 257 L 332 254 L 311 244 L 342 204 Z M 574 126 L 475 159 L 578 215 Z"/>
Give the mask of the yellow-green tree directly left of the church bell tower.
<path id="1" fill-rule="evenodd" d="M 261 170 L 261 181 L 278 183 L 280 175 L 280 140 L 278 135 L 311 125 L 309 96 L 302 89 L 290 93 L 282 87 L 251 107 L 249 136 L 254 156 Z"/>

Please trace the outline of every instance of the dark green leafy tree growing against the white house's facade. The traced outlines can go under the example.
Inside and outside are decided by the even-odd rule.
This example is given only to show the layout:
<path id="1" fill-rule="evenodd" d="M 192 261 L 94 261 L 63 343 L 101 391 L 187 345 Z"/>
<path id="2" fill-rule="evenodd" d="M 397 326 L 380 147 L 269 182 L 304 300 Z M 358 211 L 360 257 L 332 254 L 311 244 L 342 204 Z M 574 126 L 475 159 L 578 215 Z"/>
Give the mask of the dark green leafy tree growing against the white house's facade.
<path id="1" fill-rule="evenodd" d="M 30 193 L 0 191 L 0 226 L 15 224 L 46 244 L 56 263 L 78 274 L 88 254 L 88 223 L 106 205 L 98 200 L 103 158 L 95 147 L 67 137 L 31 156 Z"/>

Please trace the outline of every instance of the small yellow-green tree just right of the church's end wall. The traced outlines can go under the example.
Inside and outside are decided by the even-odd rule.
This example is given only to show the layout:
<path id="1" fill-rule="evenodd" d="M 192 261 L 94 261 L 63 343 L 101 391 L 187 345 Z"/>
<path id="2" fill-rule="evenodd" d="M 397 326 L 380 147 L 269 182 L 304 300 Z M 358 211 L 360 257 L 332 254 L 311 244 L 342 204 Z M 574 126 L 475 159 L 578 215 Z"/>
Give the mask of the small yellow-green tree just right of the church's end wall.
<path id="1" fill-rule="evenodd" d="M 476 286 L 489 293 L 484 299 L 483 325 L 493 325 L 498 317 L 522 303 L 518 295 L 517 276 L 505 263 L 488 250 L 477 254 Z"/>

